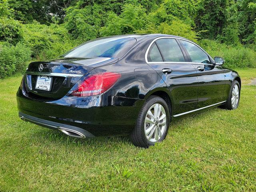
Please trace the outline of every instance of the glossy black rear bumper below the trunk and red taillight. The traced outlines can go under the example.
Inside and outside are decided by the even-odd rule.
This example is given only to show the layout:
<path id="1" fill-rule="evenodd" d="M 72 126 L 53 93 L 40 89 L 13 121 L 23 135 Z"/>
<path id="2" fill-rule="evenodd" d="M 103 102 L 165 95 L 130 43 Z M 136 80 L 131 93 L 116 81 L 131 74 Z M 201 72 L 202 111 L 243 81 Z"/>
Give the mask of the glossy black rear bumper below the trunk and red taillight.
<path id="1" fill-rule="evenodd" d="M 16 98 L 23 120 L 54 130 L 84 130 L 84 136 L 89 138 L 129 134 L 144 103 L 144 100 L 112 96 L 108 92 L 94 97 L 65 96 L 49 101 L 29 98 L 19 89 Z"/>

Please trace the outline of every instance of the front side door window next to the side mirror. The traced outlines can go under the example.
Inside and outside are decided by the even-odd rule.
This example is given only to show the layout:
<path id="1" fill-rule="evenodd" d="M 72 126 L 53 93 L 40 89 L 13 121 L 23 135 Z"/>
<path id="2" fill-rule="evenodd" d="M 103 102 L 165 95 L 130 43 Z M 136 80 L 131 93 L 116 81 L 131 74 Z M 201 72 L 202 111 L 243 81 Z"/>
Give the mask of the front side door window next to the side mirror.
<path id="1" fill-rule="evenodd" d="M 198 46 L 196 46 L 195 44 L 192 44 L 190 42 L 181 40 L 183 46 L 186 48 L 186 50 L 188 51 L 188 54 L 192 60 L 192 62 L 196 62 L 196 63 L 208 63 L 210 64 L 210 59 L 208 57 L 208 55 L 202 50 L 200 49 Z"/>

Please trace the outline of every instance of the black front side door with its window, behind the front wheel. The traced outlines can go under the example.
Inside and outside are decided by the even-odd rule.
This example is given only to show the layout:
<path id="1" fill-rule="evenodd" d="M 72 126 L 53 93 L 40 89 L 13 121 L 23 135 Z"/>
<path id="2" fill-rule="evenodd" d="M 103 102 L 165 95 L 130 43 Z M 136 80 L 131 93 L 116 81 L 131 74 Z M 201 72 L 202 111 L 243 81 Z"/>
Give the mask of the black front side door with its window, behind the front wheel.
<path id="1" fill-rule="evenodd" d="M 222 67 L 215 65 L 208 54 L 196 44 L 187 40 L 179 41 L 197 71 L 198 108 L 223 102 L 225 77 Z"/>

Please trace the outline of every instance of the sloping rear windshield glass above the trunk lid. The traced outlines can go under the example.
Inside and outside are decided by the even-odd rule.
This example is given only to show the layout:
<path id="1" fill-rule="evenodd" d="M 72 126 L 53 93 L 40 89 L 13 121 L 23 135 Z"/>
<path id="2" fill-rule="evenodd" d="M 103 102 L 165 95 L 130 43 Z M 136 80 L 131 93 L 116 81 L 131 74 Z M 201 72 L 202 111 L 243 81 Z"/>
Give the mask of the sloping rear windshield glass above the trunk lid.
<path id="1" fill-rule="evenodd" d="M 88 41 L 62 57 L 122 57 L 134 45 L 136 39 L 128 37 L 110 37 Z"/>

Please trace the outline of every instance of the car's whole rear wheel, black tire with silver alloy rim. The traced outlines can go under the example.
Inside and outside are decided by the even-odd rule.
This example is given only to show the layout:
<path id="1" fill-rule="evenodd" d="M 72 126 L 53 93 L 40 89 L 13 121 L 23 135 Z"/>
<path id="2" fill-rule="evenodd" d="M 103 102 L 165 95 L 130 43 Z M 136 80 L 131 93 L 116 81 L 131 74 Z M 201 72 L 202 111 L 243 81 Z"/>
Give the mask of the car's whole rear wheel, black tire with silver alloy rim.
<path id="1" fill-rule="evenodd" d="M 165 126 L 164 122 L 166 122 Z M 156 142 L 164 140 L 169 124 L 170 110 L 168 104 L 161 97 L 150 96 L 138 114 L 136 126 L 130 134 L 130 139 L 135 146 L 148 148 Z"/>

